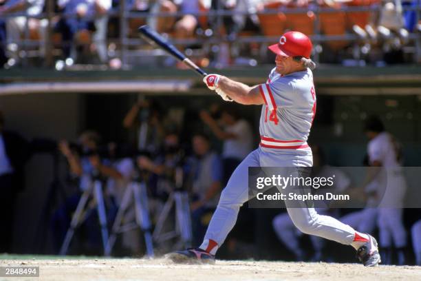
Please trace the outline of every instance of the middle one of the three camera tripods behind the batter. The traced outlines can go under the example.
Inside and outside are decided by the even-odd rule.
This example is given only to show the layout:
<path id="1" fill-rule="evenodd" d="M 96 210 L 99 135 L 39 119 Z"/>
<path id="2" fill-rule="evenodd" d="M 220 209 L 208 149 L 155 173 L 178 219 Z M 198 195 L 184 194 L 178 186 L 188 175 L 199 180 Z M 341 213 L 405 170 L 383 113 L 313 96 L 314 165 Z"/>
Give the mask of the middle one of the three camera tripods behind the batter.
<path id="1" fill-rule="evenodd" d="M 131 200 L 132 198 L 133 201 Z M 131 203 L 134 204 L 135 207 L 135 221 L 127 222 L 123 225 L 123 222 L 125 222 L 125 212 L 130 207 Z M 116 220 L 114 220 L 111 236 L 109 236 L 107 247 L 105 248 L 105 256 L 111 255 L 118 233 L 130 231 L 137 227 L 139 227 L 144 234 L 147 256 L 153 257 L 147 186 L 144 183 L 142 171 L 140 171 L 140 169 L 136 169 L 131 183 L 126 187 L 125 194 L 122 197 L 120 208 L 116 215 Z"/>

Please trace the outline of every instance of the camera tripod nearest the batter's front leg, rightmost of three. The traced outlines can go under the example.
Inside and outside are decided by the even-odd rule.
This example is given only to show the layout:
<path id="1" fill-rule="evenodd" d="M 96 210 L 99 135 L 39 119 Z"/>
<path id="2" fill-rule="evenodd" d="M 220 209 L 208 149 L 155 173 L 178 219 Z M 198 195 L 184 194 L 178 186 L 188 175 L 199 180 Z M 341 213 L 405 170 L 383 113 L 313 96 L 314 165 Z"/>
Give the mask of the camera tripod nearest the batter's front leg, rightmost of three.
<path id="1" fill-rule="evenodd" d="M 155 230 L 153 231 L 153 240 L 158 244 L 178 236 L 179 240 L 174 245 L 175 249 L 180 247 L 191 247 L 193 237 L 188 193 L 182 189 L 182 186 L 183 171 L 181 167 L 177 167 L 175 169 L 175 190 L 171 192 L 168 200 L 166 200 L 162 213 L 156 223 Z M 169 218 L 173 207 L 175 207 L 175 228 L 166 233 L 162 233 L 164 224 Z"/>

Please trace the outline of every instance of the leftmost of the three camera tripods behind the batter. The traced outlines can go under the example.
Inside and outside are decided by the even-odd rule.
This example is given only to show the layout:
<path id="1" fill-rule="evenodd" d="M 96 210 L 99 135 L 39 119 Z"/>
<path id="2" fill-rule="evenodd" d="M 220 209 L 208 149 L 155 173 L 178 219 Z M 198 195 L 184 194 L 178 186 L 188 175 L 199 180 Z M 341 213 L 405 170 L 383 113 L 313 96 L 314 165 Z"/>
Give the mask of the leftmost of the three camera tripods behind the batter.
<path id="1" fill-rule="evenodd" d="M 107 215 L 105 212 L 104 196 L 102 194 L 102 181 L 100 178 L 99 171 L 94 170 L 91 172 L 91 180 L 93 181 L 93 183 L 91 183 L 91 185 L 89 185 L 89 187 L 85 191 L 83 191 L 83 194 L 78 202 L 78 206 L 76 207 L 76 211 L 74 212 L 74 215 L 72 217 L 72 222 L 70 222 L 70 227 L 67 230 L 65 240 L 61 245 L 60 255 L 62 256 L 64 256 L 67 253 L 67 250 L 69 249 L 69 245 L 70 242 L 72 242 L 74 231 L 86 218 L 86 212 L 89 209 L 89 207 L 87 207 L 87 203 L 91 196 L 93 196 L 95 200 L 94 202 L 96 204 L 96 211 L 98 213 L 98 220 L 100 222 L 101 227 L 102 245 L 104 247 L 104 252 L 107 247 Z"/>

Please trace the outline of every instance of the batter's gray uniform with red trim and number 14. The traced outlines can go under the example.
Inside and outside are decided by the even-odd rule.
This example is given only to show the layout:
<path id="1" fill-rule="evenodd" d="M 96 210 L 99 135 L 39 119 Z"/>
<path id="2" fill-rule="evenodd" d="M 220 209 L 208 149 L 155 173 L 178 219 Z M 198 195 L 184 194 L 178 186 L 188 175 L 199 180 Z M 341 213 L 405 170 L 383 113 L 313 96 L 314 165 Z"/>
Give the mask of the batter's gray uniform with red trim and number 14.
<path id="1" fill-rule="evenodd" d="M 239 208 L 248 198 L 248 167 L 311 167 L 312 150 L 307 138 L 316 112 L 316 94 L 310 69 L 285 76 L 270 72 L 267 83 L 258 86 L 265 101 L 261 110 L 261 143 L 235 169 L 222 191 L 204 238 L 220 246 L 235 225 Z M 317 214 L 314 208 L 288 207 L 294 225 L 303 233 L 351 244 L 352 227 Z M 202 247 L 201 246 L 201 247 Z"/>

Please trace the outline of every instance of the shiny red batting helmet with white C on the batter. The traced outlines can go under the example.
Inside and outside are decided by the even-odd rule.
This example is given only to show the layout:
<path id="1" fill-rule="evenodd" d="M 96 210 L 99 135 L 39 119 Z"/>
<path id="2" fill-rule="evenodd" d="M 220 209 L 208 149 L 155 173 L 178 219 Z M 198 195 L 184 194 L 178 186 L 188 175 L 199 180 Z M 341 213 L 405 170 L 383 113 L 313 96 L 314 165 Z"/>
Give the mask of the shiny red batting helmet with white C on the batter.
<path id="1" fill-rule="evenodd" d="M 290 31 L 283 34 L 277 44 L 270 45 L 268 48 L 280 56 L 304 56 L 310 59 L 313 45 L 307 35 Z"/>

